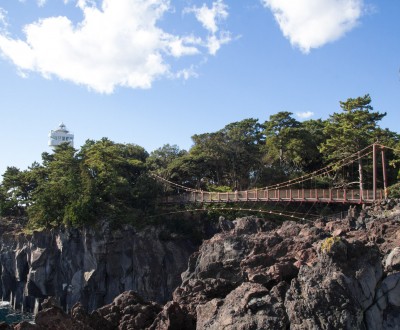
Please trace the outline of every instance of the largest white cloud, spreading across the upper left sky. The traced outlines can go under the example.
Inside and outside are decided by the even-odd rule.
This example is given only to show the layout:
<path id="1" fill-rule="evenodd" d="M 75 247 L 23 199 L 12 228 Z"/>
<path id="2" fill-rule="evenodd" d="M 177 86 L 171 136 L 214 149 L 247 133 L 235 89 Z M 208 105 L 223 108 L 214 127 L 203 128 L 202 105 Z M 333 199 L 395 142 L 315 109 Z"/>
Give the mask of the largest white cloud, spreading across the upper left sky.
<path id="1" fill-rule="evenodd" d="M 215 21 L 225 17 L 221 4 L 214 4 Z M 76 6 L 83 13 L 78 24 L 64 16 L 41 19 L 25 26 L 25 40 L 0 30 L 0 53 L 21 75 L 39 72 L 112 93 L 116 86 L 150 88 L 162 77 L 194 77 L 192 68 L 171 72 L 168 59 L 200 54 L 202 48 L 215 54 L 229 39 L 210 49 L 208 39 L 165 32 L 157 23 L 170 10 L 169 0 L 76 0 Z"/>

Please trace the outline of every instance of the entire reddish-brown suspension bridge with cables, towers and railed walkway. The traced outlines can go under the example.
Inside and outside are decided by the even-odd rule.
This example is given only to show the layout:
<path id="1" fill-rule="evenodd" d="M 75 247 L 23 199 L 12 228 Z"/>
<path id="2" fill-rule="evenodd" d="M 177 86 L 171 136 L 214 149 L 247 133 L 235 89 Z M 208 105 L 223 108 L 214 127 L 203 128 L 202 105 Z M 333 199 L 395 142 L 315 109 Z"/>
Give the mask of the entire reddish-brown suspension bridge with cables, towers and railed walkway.
<path id="1" fill-rule="evenodd" d="M 237 203 L 237 202 L 312 202 L 312 203 L 342 203 L 342 204 L 371 204 L 387 198 L 387 173 L 385 150 L 391 149 L 380 144 L 372 144 L 340 161 L 322 169 L 305 174 L 295 179 L 268 187 L 256 188 L 245 191 L 210 192 L 193 189 L 171 182 L 156 174 L 153 176 L 162 183 L 177 188 L 180 193 L 163 198 L 165 204 L 187 203 Z M 372 155 L 372 183 L 363 180 L 363 159 Z M 382 179 L 379 180 L 383 187 L 378 188 L 378 158 L 381 158 Z M 342 187 L 299 188 L 307 182 L 328 176 L 346 166 L 357 163 L 359 181 L 357 189 L 349 189 L 346 184 Z M 354 184 L 354 182 L 353 182 Z M 372 189 L 364 189 L 364 186 Z"/>

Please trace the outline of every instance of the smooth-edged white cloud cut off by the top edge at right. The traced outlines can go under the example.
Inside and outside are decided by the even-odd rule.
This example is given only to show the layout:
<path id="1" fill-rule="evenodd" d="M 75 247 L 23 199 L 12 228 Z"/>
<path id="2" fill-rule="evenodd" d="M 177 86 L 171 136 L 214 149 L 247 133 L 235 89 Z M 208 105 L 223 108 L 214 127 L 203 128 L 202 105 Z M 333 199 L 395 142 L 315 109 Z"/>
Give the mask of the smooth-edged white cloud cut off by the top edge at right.
<path id="1" fill-rule="evenodd" d="M 262 0 L 284 36 L 308 53 L 352 30 L 364 13 L 363 0 Z"/>

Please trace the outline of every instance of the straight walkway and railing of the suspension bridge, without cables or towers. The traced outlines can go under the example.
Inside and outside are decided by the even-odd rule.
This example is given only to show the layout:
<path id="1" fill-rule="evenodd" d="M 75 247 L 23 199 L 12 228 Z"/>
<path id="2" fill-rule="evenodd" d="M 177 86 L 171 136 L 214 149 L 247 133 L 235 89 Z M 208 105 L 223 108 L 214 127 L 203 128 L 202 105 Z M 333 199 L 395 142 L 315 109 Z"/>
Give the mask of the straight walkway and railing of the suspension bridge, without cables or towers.
<path id="1" fill-rule="evenodd" d="M 383 198 L 383 191 L 359 189 L 271 189 L 236 192 L 195 191 L 165 197 L 164 203 L 231 203 L 231 202 L 319 202 L 370 204 Z"/>

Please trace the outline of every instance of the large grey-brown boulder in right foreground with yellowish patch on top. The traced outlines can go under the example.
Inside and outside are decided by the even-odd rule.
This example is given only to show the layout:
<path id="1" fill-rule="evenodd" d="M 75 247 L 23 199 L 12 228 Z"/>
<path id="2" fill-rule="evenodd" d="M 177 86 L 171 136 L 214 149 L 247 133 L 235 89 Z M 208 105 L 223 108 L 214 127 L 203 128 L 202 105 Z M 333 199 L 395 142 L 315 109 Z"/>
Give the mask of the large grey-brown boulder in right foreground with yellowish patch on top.
<path id="1" fill-rule="evenodd" d="M 382 277 L 379 253 L 360 244 L 344 251 L 321 254 L 314 267 L 302 267 L 293 279 L 285 301 L 291 329 L 365 328 L 364 311 Z"/>

